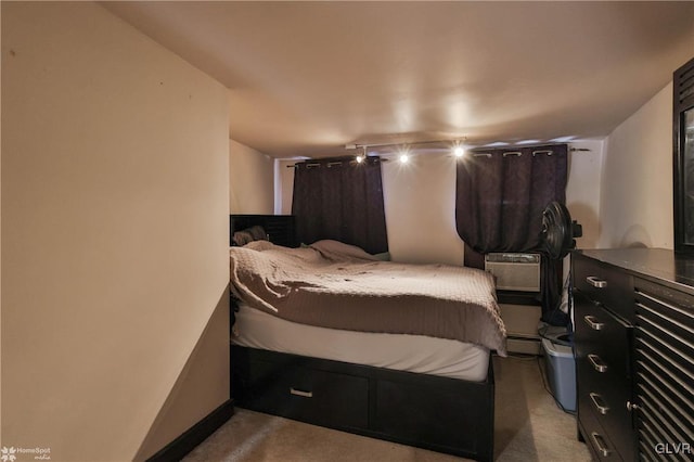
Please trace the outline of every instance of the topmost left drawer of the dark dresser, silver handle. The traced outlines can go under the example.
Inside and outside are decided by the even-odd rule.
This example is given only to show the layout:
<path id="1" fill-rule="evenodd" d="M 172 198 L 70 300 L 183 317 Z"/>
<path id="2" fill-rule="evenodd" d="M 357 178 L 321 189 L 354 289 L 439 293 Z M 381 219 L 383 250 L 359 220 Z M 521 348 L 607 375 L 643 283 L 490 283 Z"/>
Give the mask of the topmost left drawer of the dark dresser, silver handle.
<path id="1" fill-rule="evenodd" d="M 600 261 L 575 256 L 574 287 L 590 299 L 631 321 L 633 319 L 633 278 Z"/>

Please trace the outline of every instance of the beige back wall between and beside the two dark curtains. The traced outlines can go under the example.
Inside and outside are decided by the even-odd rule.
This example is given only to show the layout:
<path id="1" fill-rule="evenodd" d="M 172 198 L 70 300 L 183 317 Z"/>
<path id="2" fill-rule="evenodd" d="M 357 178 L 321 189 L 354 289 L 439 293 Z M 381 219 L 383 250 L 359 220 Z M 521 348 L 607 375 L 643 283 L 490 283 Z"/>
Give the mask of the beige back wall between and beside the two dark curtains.
<path id="1" fill-rule="evenodd" d="M 589 151 L 569 154 L 567 205 L 583 224 L 582 248 L 594 247 L 600 228 L 600 169 L 602 141 L 583 141 L 573 147 Z M 275 198 L 278 213 L 292 211 L 295 161 L 278 161 Z M 394 260 L 462 265 L 464 245 L 455 230 L 455 165 L 449 154 L 413 155 L 401 165 L 383 164 L 383 191 L 388 229 L 388 246 Z"/>

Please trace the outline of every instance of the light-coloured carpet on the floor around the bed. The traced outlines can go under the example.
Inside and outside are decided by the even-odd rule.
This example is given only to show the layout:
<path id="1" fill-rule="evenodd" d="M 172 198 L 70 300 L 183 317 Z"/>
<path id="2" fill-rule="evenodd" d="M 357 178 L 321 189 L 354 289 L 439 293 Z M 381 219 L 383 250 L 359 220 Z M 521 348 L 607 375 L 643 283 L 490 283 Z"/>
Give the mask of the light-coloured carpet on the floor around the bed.
<path id="1" fill-rule="evenodd" d="M 494 358 L 497 461 L 590 461 L 574 415 L 545 390 L 537 359 Z M 452 462 L 464 459 L 236 409 L 184 462 Z"/>

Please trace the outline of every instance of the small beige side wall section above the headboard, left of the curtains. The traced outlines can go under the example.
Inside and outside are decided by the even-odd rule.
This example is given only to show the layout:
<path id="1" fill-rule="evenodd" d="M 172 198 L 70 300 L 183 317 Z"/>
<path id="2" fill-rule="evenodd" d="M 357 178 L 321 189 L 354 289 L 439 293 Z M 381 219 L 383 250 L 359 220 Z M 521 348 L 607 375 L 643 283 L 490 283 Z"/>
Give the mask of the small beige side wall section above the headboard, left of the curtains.
<path id="1" fill-rule="evenodd" d="M 273 210 L 273 159 L 229 140 L 229 213 L 265 215 Z"/>

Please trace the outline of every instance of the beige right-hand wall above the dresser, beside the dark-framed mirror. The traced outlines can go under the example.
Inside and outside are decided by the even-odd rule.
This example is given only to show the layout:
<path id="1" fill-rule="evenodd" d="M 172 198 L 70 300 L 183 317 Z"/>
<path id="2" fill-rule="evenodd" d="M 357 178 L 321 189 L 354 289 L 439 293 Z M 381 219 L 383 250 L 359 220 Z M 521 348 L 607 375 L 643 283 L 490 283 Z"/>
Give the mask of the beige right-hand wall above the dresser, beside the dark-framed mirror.
<path id="1" fill-rule="evenodd" d="M 673 248 L 672 84 L 607 138 L 600 247 Z"/>

